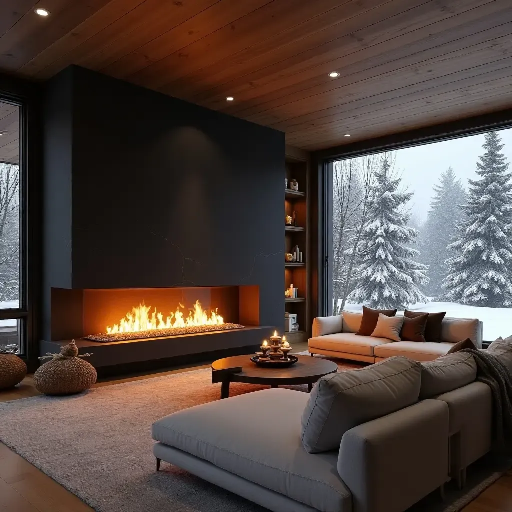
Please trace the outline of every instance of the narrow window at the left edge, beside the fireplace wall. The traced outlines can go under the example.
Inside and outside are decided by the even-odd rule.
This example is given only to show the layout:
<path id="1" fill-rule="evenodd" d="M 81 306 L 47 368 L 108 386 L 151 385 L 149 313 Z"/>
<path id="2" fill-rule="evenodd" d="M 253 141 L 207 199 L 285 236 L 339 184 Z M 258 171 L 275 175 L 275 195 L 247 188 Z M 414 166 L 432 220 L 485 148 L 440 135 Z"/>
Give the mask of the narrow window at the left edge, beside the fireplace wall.
<path id="1" fill-rule="evenodd" d="M 0 349 L 25 351 L 19 105 L 0 100 Z"/>

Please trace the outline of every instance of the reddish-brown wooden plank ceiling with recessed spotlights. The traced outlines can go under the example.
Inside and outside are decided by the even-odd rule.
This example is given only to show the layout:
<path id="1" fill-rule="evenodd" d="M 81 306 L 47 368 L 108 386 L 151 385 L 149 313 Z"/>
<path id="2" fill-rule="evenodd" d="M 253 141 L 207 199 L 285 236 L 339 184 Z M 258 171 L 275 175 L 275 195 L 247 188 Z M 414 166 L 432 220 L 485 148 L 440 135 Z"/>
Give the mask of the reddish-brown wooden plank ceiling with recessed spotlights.
<path id="1" fill-rule="evenodd" d="M 510 0 L 0 3 L 0 70 L 46 80 L 81 65 L 306 150 L 510 108 L 511 50 Z"/>

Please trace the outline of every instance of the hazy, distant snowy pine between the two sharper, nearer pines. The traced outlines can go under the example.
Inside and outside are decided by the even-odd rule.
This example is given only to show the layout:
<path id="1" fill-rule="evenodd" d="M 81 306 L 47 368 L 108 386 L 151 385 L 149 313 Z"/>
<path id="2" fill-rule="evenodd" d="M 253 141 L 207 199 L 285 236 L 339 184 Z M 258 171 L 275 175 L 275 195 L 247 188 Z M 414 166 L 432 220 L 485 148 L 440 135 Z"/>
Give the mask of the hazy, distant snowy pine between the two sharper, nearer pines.
<path id="1" fill-rule="evenodd" d="M 442 286 L 446 277 L 444 262 L 450 257 L 447 246 L 456 240 L 455 227 L 462 220 L 460 207 L 465 204 L 464 194 L 465 189 L 452 167 L 442 173 L 439 184 L 434 185 L 429 215 L 418 239 L 421 262 L 429 266 L 430 278 L 422 289 L 431 297 L 445 293 Z"/>

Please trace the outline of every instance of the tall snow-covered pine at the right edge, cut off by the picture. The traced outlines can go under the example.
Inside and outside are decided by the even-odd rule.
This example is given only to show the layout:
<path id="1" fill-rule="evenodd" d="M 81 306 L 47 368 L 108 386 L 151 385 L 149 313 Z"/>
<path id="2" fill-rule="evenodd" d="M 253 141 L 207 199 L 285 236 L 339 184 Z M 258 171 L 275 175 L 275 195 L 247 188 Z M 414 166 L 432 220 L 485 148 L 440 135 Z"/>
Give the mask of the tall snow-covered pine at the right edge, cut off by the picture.
<path id="1" fill-rule="evenodd" d="M 500 153 L 497 132 L 485 134 L 485 153 L 477 162 L 481 180 L 469 180 L 459 239 L 449 246 L 459 252 L 448 259 L 443 286 L 450 301 L 503 308 L 512 305 L 512 174 Z"/>

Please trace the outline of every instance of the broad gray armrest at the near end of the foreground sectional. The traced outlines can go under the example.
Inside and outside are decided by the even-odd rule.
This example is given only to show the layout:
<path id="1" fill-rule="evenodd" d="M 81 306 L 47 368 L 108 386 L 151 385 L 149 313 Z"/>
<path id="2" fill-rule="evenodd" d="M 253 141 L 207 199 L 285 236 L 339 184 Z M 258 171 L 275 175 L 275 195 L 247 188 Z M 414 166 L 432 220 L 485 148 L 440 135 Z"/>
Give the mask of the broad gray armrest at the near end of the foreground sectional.
<path id="1" fill-rule="evenodd" d="M 406 510 L 448 480 L 449 410 L 424 400 L 349 430 L 338 473 L 354 512 Z"/>

